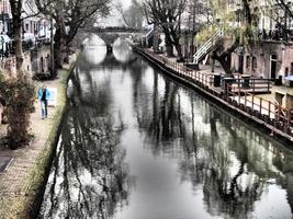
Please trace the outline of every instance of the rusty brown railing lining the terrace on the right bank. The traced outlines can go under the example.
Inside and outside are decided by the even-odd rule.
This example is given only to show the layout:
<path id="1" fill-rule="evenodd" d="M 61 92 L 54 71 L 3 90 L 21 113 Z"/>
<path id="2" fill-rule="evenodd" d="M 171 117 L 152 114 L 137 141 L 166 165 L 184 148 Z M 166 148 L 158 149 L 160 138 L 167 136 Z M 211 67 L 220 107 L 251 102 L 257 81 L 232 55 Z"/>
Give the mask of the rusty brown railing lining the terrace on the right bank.
<path id="1" fill-rule="evenodd" d="M 138 49 L 139 50 L 139 49 Z M 293 108 L 284 108 L 278 103 L 267 101 L 256 96 L 259 89 L 268 92 L 271 89 L 271 82 L 268 79 L 233 79 L 232 83 L 226 83 L 222 79 L 219 88 L 214 87 L 214 74 L 203 73 L 187 68 L 182 64 L 171 61 L 168 58 L 158 56 L 149 50 L 140 50 L 151 57 L 157 64 L 174 74 L 196 84 L 206 92 L 217 96 L 229 105 L 239 108 L 241 112 L 262 120 L 273 132 L 282 132 L 285 138 L 293 139 Z M 247 87 L 249 84 L 249 87 Z"/>

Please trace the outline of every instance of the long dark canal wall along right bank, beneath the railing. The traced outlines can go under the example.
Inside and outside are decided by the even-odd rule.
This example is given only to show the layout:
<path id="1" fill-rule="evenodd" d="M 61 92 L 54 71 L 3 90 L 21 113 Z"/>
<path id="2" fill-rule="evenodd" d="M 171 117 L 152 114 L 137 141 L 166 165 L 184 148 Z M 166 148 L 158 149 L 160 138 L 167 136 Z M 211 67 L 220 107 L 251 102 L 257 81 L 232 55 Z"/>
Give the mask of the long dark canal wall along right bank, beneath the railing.
<path id="1" fill-rule="evenodd" d="M 266 131 L 268 135 L 274 136 L 279 140 L 283 140 L 290 145 L 293 143 L 292 134 L 290 135 L 286 131 L 279 129 L 274 119 L 269 119 L 269 123 L 266 122 L 267 117 L 261 116 L 259 112 L 256 112 L 249 107 L 244 107 L 243 104 L 238 104 L 236 101 L 233 101 L 228 95 L 211 89 L 201 80 L 195 80 L 196 77 L 195 79 L 191 77 L 189 70 L 182 69 L 176 64 L 168 65 L 167 59 L 161 59 L 161 57 L 158 57 L 156 54 L 149 53 L 139 47 L 135 47 L 134 50 L 176 81 L 179 81 L 184 85 L 198 91 L 207 100 L 213 101 L 216 104 L 221 104 L 222 107 L 237 116 L 240 116 L 246 122 L 252 122 L 255 126 L 261 128 L 261 130 Z"/>

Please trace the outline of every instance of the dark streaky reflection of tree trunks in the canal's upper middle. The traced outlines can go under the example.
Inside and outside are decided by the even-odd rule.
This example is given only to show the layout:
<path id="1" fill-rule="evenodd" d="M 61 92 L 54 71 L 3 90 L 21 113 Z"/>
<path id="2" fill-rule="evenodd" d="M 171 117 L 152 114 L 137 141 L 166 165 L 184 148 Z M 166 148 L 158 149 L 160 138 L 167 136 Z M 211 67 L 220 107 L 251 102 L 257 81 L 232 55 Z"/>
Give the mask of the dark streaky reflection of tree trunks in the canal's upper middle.
<path id="1" fill-rule="evenodd" d="M 142 88 L 142 87 L 140 87 Z M 181 123 L 180 96 L 178 85 L 166 81 L 164 94 L 160 96 L 158 91 L 158 74 L 154 73 L 153 96 L 144 96 L 146 91 L 137 91 L 135 99 L 136 115 L 140 128 L 147 130 L 149 140 L 154 143 L 169 141 L 183 137 L 184 124 Z M 143 103 L 142 101 L 148 101 Z M 139 107 L 140 106 L 140 107 Z"/>

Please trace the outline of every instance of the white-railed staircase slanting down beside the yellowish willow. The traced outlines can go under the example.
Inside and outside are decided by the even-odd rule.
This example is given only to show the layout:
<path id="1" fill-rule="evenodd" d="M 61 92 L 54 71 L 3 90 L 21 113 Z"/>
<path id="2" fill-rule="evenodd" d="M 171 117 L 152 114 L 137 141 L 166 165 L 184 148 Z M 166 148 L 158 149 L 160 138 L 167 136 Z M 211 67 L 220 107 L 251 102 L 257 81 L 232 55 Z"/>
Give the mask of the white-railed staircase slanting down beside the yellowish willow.
<path id="1" fill-rule="evenodd" d="M 223 36 L 223 31 L 218 30 L 207 42 L 205 42 L 194 54 L 193 56 L 193 62 L 199 64 L 210 51 L 219 37 Z"/>

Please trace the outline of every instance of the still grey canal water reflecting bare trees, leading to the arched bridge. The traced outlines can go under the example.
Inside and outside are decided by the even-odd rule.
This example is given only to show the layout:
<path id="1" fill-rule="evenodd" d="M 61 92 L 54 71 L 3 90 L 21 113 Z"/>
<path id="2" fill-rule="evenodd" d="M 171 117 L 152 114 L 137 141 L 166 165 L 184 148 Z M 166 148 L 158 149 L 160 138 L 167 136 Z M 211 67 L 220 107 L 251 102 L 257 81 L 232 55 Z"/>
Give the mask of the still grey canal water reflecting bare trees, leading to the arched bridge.
<path id="1" fill-rule="evenodd" d="M 84 42 L 40 218 L 292 218 L 293 152 L 117 39 Z"/>

